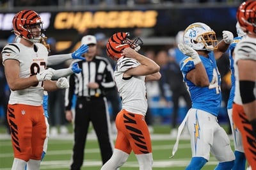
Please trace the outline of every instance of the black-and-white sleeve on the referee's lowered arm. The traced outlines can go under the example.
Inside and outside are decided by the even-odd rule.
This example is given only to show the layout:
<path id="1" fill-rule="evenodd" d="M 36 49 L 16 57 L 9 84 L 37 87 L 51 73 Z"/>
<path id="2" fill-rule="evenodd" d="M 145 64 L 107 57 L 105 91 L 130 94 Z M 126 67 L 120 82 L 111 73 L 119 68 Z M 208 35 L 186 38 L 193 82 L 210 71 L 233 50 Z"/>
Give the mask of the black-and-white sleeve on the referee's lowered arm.
<path id="1" fill-rule="evenodd" d="M 71 110 L 72 107 L 72 98 L 75 91 L 75 75 L 72 74 L 68 77 L 69 88 L 65 91 L 65 109 L 66 111 Z"/>

